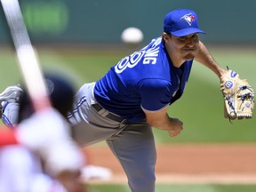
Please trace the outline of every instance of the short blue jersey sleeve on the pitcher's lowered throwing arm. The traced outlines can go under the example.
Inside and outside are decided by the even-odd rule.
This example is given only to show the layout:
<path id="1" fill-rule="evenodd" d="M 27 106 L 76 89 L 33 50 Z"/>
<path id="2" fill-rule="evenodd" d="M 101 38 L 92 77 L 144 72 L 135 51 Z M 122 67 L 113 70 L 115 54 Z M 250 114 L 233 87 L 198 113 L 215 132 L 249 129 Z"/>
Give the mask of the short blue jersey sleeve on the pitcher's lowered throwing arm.
<path id="1" fill-rule="evenodd" d="M 172 100 L 172 84 L 163 79 L 143 79 L 138 85 L 141 108 L 157 111 L 168 106 Z"/>

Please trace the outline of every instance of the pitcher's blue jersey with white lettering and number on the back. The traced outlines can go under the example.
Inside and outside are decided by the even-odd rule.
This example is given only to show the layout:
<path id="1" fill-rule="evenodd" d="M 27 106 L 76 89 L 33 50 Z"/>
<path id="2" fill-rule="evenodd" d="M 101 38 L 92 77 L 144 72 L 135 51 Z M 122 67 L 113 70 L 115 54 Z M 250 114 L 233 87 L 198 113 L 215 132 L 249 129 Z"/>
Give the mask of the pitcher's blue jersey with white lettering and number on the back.
<path id="1" fill-rule="evenodd" d="M 120 60 L 96 82 L 95 99 L 103 108 L 130 122 L 145 121 L 142 108 L 157 111 L 180 98 L 192 62 L 173 67 L 162 37 L 153 39 L 139 52 Z"/>

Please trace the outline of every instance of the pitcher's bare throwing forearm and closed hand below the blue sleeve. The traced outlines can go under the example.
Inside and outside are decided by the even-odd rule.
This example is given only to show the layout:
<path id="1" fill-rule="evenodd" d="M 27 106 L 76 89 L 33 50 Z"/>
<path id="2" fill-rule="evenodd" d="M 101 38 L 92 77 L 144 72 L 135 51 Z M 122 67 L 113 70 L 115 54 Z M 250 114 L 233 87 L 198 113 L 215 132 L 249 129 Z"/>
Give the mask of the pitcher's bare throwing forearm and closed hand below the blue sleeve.
<path id="1" fill-rule="evenodd" d="M 156 127 L 161 130 L 166 130 L 171 137 L 178 136 L 183 130 L 183 123 L 178 118 L 171 118 L 167 114 L 168 108 L 161 109 L 159 111 L 144 110 L 146 114 L 147 123 L 152 127 Z"/>

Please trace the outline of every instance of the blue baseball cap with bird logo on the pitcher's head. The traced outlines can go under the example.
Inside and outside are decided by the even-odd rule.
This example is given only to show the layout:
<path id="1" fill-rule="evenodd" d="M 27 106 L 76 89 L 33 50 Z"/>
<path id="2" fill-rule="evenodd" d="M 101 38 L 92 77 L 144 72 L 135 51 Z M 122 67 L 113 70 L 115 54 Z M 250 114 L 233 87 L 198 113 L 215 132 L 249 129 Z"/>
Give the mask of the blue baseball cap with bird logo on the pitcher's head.
<path id="1" fill-rule="evenodd" d="M 173 36 L 188 36 L 205 32 L 198 28 L 196 12 L 188 9 L 177 9 L 164 17 L 164 32 Z"/>

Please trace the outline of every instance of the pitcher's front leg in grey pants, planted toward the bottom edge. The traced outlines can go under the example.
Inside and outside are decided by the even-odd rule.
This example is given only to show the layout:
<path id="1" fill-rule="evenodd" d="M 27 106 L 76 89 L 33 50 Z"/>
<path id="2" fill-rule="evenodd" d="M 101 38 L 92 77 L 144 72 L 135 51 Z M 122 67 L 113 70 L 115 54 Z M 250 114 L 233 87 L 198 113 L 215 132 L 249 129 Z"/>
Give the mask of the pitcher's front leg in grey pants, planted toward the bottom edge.
<path id="1" fill-rule="evenodd" d="M 154 192 L 156 146 L 152 128 L 148 124 L 128 125 L 107 143 L 123 166 L 132 192 Z"/>

